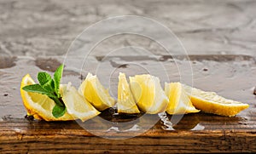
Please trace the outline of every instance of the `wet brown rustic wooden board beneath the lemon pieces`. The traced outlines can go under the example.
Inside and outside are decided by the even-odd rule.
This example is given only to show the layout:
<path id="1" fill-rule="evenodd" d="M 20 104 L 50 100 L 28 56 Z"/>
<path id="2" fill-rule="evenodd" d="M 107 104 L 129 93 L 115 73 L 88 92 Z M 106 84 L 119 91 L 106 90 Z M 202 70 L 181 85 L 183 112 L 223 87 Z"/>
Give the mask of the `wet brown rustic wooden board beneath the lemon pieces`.
<path id="1" fill-rule="evenodd" d="M 30 72 L 36 78 L 37 72 L 54 71 L 61 63 L 61 57 L 1 57 L 0 67 L 0 151 L 1 153 L 38 153 L 38 152 L 84 152 L 84 153 L 183 153 L 183 152 L 250 152 L 256 151 L 256 117 L 255 96 L 253 88 L 256 86 L 255 58 L 241 55 L 191 55 L 190 62 L 194 72 L 194 85 L 197 88 L 216 91 L 233 100 L 248 103 L 250 107 L 241 111 L 236 117 L 220 117 L 207 113 L 185 115 L 179 123 L 170 125 L 172 116 L 159 116 L 160 120 L 147 132 L 126 140 L 109 140 L 90 134 L 89 131 L 76 121 L 71 122 L 44 122 L 27 121 L 26 111 L 20 99 L 21 77 Z M 74 59 L 79 60 L 79 58 Z M 168 66 L 166 72 L 170 74 L 170 81 L 178 81 L 177 65 L 188 63 L 183 57 L 173 60 L 169 56 L 161 57 L 101 57 L 91 58 L 87 67 L 80 75 L 79 72 L 68 69 L 64 71 L 63 82 L 68 79 L 78 79 L 86 75 L 87 71 L 95 71 L 98 64 L 105 66 L 100 71 L 100 79 L 109 86 L 115 95 L 116 78 L 118 71 L 127 74 L 136 74 L 140 68 L 125 65 L 127 61 L 139 63 L 147 68 L 153 68 L 152 73 L 161 78 L 162 70 L 155 69 L 157 63 Z M 100 63 L 99 63 L 100 62 Z M 98 67 L 98 70 L 101 67 Z M 116 69 L 118 68 L 118 69 Z M 108 73 L 113 71 L 110 77 Z M 136 70 L 137 69 L 137 70 Z M 72 77 L 70 77 L 72 75 Z M 108 77 L 103 80 L 104 77 Z M 106 81 L 106 82 L 105 82 Z M 109 82 L 109 83 L 108 83 Z M 76 84 L 76 83 L 74 83 Z M 131 120 L 128 117 L 119 117 L 111 114 L 113 110 L 105 111 L 104 117 L 113 123 L 119 130 L 106 132 L 104 127 L 94 127 L 94 118 L 86 122 L 87 126 L 95 128 L 98 134 L 104 137 L 129 137 L 136 131 L 129 130 L 137 121 L 120 128 L 118 123 Z M 154 117 L 158 117 L 154 115 Z M 134 118 L 134 117 L 133 117 Z M 128 120 L 127 120 L 128 119 Z M 148 118 L 148 122 L 153 117 Z M 107 128 L 111 126 L 107 126 Z M 126 136 L 124 136 L 126 135 Z"/>

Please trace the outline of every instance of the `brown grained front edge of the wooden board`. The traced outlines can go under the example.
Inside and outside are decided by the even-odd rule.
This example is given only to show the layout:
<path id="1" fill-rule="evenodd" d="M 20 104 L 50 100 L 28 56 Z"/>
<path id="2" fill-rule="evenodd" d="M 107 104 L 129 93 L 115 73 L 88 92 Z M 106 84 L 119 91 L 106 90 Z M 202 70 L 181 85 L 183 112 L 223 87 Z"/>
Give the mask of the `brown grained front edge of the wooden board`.
<path id="1" fill-rule="evenodd" d="M 119 133 L 109 135 L 119 136 Z M 75 122 L 31 123 L 24 119 L 11 119 L 9 123 L 0 123 L 0 149 L 3 153 L 250 152 L 256 150 L 255 137 L 255 129 L 166 131 L 161 129 L 159 122 L 137 137 L 108 140 L 88 133 Z"/>

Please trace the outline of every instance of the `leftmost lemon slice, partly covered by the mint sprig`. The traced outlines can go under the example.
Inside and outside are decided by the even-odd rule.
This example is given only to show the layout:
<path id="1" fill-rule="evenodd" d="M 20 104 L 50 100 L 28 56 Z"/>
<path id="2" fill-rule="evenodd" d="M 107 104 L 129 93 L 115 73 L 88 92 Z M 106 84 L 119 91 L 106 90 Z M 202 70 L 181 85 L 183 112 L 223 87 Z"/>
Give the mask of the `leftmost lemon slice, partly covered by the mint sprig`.
<path id="1" fill-rule="evenodd" d="M 29 74 L 23 77 L 20 83 L 20 94 L 28 115 L 32 115 L 36 119 L 44 119 L 45 121 L 73 120 L 73 117 L 67 112 L 62 117 L 55 118 L 52 115 L 52 109 L 55 106 L 55 102 L 54 100 L 49 99 L 47 95 L 26 92 L 22 89 L 31 84 L 35 84 L 35 82 Z"/>

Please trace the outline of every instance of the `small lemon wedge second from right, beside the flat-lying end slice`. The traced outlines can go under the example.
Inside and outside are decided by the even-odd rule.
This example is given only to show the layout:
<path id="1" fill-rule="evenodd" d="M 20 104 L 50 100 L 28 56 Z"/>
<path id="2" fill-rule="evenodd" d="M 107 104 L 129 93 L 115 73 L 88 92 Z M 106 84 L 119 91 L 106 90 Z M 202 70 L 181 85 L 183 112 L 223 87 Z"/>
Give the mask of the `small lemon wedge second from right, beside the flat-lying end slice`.
<path id="1" fill-rule="evenodd" d="M 186 114 L 195 113 L 199 110 L 192 105 L 189 95 L 186 94 L 181 83 L 166 83 L 165 92 L 169 98 L 169 104 L 166 108 L 168 114 Z"/>

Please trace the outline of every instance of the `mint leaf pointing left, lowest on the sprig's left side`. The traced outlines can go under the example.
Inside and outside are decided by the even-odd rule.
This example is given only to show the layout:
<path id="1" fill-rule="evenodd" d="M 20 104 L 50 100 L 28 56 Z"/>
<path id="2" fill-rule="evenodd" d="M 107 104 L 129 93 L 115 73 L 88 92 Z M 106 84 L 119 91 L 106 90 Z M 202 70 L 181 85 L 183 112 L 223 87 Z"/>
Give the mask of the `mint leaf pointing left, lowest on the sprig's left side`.
<path id="1" fill-rule="evenodd" d="M 22 89 L 27 91 L 27 92 L 33 92 L 33 93 L 38 93 L 38 94 L 45 94 L 45 95 L 48 95 L 49 97 L 53 97 L 53 98 L 56 97 L 50 91 L 48 91 L 47 89 L 43 88 L 40 84 L 28 85 L 28 86 L 23 87 Z"/>

